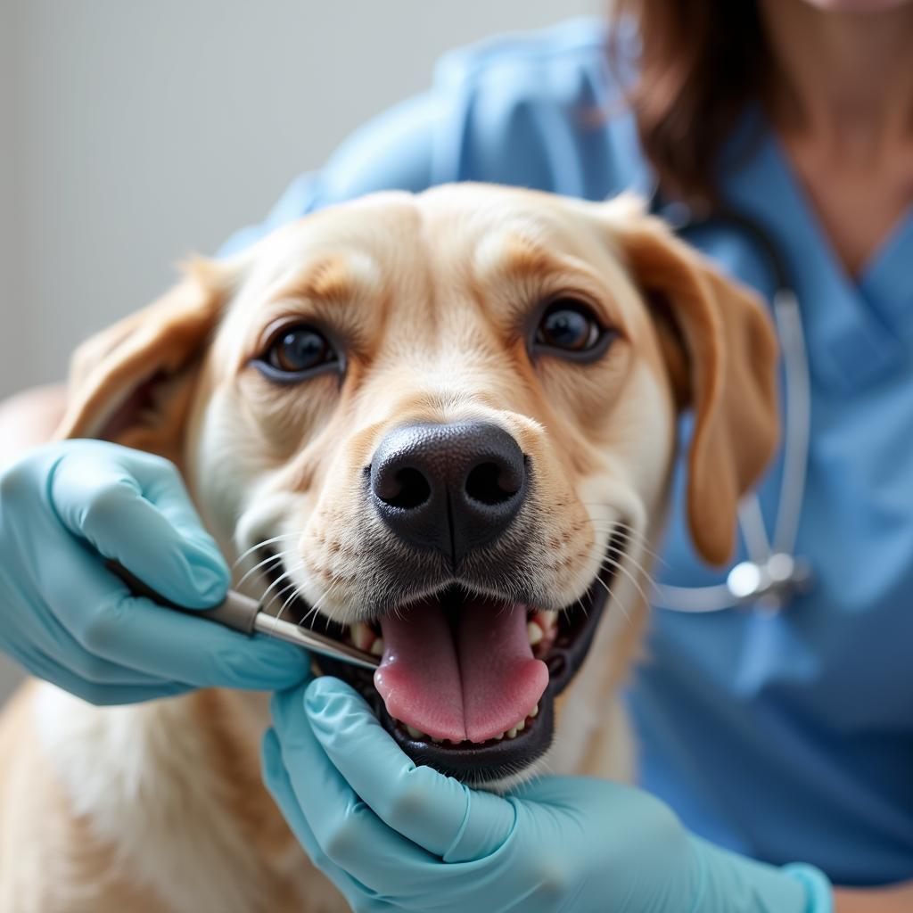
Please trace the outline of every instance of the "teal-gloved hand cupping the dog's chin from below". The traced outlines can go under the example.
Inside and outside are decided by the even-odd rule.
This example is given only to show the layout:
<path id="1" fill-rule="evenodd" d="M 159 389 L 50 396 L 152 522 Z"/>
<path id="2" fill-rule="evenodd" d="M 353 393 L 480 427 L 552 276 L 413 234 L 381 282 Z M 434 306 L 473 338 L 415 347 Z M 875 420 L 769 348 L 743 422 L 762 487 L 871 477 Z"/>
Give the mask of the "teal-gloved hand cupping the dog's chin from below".
<path id="1" fill-rule="evenodd" d="M 416 767 L 352 688 L 273 700 L 270 792 L 357 911 L 824 913 L 824 876 L 688 834 L 645 792 L 542 777 L 501 797 Z"/>

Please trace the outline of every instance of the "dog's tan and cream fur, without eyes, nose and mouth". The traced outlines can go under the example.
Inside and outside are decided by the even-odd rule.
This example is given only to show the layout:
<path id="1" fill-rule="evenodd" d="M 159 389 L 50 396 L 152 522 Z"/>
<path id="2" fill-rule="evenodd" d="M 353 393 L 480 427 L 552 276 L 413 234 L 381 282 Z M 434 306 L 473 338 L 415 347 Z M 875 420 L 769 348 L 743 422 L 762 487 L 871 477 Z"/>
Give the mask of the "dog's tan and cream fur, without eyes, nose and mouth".
<path id="1" fill-rule="evenodd" d="M 587 300 L 619 331 L 600 362 L 530 359 L 523 328 L 555 295 Z M 342 383 L 278 386 L 251 366 L 296 319 L 344 341 Z M 463 418 L 506 428 L 535 467 L 515 522 L 530 530 L 544 607 L 580 597 L 610 525 L 629 528 L 612 603 L 556 702 L 554 745 L 525 773 L 624 778 L 617 692 L 645 620 L 645 543 L 663 517 L 677 411 L 696 413 L 691 530 L 724 561 L 737 499 L 775 444 L 773 363 L 756 301 L 634 201 L 461 185 L 378 194 L 224 263 L 195 261 L 79 350 L 60 434 L 170 457 L 226 555 L 285 536 L 289 580 L 352 621 L 377 595 L 375 546 L 395 549 L 359 481 L 383 435 Z M 130 397 L 143 384 L 152 402 L 140 408 Z M 28 686 L 0 725 L 0 911 L 344 908 L 260 784 L 267 721 L 263 696 L 94 708 Z"/>

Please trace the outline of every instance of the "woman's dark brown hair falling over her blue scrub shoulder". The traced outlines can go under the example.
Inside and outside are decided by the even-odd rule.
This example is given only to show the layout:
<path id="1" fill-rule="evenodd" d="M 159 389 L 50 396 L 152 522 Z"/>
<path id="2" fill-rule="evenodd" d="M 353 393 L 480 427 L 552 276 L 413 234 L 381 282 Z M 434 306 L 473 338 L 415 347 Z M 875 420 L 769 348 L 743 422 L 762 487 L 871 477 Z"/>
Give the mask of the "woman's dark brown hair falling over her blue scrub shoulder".
<path id="1" fill-rule="evenodd" d="M 770 69 L 756 0 L 615 0 L 611 19 L 616 73 L 630 67 L 626 38 L 639 36 L 627 100 L 660 184 L 712 199 L 721 147 Z"/>

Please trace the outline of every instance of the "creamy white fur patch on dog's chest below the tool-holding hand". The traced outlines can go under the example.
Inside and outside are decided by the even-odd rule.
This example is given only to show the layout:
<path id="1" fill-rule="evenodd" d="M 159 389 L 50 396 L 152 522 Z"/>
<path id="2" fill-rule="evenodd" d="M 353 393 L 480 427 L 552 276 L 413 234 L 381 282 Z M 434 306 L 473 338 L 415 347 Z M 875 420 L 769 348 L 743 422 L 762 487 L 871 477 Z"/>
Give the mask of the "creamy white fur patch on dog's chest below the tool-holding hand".
<path id="1" fill-rule="evenodd" d="M 257 909 L 257 866 L 180 701 L 99 712 L 44 684 L 35 713 L 73 813 L 116 847 L 115 865 L 176 913 Z"/>

